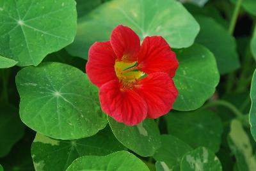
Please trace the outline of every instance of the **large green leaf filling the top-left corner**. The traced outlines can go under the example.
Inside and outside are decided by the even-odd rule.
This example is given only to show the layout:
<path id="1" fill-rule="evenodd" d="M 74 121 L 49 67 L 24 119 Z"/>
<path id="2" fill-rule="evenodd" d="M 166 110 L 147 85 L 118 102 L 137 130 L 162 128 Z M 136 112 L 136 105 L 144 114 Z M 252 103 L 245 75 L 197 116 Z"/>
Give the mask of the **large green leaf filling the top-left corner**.
<path id="1" fill-rule="evenodd" d="M 74 0 L 0 1 L 0 54 L 19 66 L 38 65 L 76 35 Z"/>

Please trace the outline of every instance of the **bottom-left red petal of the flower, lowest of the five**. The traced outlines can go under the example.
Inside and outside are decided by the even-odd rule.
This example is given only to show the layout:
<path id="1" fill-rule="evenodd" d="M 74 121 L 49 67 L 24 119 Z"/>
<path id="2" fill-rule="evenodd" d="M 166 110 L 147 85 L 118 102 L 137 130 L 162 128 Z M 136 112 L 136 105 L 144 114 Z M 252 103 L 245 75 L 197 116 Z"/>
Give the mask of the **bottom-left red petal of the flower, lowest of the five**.
<path id="1" fill-rule="evenodd" d="M 100 87 L 102 110 L 120 123 L 135 125 L 147 117 L 147 104 L 131 89 L 120 89 L 118 81 L 110 81 Z"/>

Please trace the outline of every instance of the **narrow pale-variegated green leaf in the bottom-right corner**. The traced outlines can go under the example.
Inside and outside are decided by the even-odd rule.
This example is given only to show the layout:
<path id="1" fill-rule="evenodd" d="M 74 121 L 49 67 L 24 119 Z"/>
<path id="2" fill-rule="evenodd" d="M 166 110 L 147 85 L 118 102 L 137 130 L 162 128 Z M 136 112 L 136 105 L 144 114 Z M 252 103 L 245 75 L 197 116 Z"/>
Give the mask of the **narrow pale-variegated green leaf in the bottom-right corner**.
<path id="1" fill-rule="evenodd" d="M 228 145 L 236 156 L 237 168 L 240 171 L 256 170 L 256 158 L 253 154 L 252 145 L 243 125 L 240 121 L 233 119 L 230 124 Z"/>

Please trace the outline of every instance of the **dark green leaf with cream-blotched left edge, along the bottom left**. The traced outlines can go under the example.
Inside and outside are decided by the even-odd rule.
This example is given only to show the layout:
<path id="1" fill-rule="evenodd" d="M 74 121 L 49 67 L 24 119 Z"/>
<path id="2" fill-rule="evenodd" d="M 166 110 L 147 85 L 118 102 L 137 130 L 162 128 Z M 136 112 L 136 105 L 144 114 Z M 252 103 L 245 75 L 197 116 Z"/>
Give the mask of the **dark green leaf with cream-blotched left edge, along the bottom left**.
<path id="1" fill-rule="evenodd" d="M 36 170 L 65 170 L 81 156 L 106 156 L 125 150 L 108 126 L 93 137 L 79 140 L 54 140 L 37 133 L 31 155 Z"/>

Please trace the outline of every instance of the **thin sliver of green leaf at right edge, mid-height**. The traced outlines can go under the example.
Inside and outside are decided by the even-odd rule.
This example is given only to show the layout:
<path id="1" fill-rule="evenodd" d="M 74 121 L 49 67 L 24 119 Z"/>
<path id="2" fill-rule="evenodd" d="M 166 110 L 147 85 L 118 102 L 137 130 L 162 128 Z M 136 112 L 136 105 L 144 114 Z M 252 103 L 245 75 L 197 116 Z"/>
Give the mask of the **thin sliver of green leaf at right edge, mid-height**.
<path id="1" fill-rule="evenodd" d="M 250 97 L 252 106 L 249 114 L 249 122 L 251 124 L 251 133 L 254 140 L 256 140 L 256 70 L 253 73 Z"/>

